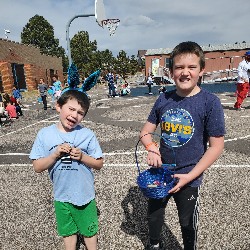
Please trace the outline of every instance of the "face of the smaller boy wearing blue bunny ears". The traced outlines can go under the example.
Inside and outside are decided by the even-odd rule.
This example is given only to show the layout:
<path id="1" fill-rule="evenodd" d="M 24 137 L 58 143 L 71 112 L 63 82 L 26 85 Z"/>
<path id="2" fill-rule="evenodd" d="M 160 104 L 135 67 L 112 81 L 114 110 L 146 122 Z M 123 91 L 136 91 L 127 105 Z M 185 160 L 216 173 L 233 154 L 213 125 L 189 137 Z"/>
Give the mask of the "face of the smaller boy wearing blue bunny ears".
<path id="1" fill-rule="evenodd" d="M 64 132 L 72 131 L 84 118 L 85 111 L 75 99 L 69 99 L 62 107 L 56 105 L 59 113 L 59 129 Z"/>

